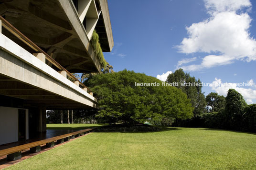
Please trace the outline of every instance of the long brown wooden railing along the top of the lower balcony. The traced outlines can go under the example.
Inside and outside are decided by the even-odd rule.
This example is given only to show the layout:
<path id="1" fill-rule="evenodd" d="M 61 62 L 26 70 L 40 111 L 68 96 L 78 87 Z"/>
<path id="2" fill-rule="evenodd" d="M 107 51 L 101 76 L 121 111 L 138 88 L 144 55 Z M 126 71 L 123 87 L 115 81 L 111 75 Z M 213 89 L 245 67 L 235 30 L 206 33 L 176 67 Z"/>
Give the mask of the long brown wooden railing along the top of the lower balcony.
<path id="1" fill-rule="evenodd" d="M 60 65 L 57 61 L 55 61 L 51 56 L 49 56 L 46 52 L 44 52 L 40 47 L 38 47 L 35 43 L 32 42 L 29 38 L 27 38 L 24 34 L 22 34 L 19 30 L 17 30 L 11 23 L 9 23 L 7 20 L 5 20 L 2 16 L 0 16 L 0 20 L 2 21 L 2 26 L 10 31 L 14 36 L 16 36 L 18 39 L 23 41 L 25 44 L 27 44 L 30 48 L 35 50 L 36 52 L 41 52 L 45 55 L 45 59 L 48 60 L 50 63 L 52 63 L 55 67 L 57 67 L 59 70 L 64 70 L 67 73 L 67 76 L 70 79 L 73 79 L 75 81 L 79 82 L 79 85 L 82 88 L 86 88 L 87 91 L 92 92 L 88 87 L 86 87 L 80 80 L 78 80 L 73 74 L 71 74 L 68 70 L 66 70 L 62 65 Z"/>

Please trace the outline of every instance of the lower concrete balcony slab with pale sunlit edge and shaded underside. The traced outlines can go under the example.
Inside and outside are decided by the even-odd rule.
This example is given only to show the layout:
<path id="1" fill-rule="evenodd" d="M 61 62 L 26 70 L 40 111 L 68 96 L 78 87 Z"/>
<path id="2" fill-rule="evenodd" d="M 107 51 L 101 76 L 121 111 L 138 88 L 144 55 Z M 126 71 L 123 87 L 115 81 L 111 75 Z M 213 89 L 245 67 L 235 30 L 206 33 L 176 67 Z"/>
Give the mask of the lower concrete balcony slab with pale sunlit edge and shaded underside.
<path id="1" fill-rule="evenodd" d="M 0 95 L 22 107 L 96 108 L 96 99 L 42 60 L 0 34 Z"/>

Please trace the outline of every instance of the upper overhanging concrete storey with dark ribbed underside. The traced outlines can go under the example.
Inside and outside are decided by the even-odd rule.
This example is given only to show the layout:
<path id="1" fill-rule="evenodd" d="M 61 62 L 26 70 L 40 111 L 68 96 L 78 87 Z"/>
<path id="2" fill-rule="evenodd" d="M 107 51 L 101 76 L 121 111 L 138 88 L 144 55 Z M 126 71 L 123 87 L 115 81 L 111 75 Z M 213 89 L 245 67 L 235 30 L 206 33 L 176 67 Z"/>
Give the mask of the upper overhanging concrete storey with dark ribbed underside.
<path id="1" fill-rule="evenodd" d="M 69 72 L 100 71 L 90 44 L 94 29 L 103 51 L 113 47 L 107 0 L 0 0 L 0 15 Z M 34 53 L 8 30 L 2 33 Z"/>

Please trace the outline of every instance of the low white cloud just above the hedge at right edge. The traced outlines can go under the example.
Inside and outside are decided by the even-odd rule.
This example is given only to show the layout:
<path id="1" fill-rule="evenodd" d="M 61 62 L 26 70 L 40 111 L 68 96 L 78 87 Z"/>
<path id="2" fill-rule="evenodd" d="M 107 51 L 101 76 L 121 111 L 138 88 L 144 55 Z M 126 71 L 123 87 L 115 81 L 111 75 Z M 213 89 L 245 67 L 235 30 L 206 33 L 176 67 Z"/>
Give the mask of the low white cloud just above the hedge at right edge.
<path id="1" fill-rule="evenodd" d="M 256 87 L 253 80 L 249 80 L 247 82 L 250 83 L 250 87 Z M 211 86 L 212 90 L 215 90 L 219 95 L 226 96 L 229 89 L 235 89 L 244 96 L 244 99 L 248 104 L 252 104 L 252 100 L 256 100 L 256 90 L 252 88 L 245 89 L 237 86 L 236 83 L 227 83 L 220 86 L 221 83 L 223 83 L 221 79 L 215 78 L 213 85 Z"/>

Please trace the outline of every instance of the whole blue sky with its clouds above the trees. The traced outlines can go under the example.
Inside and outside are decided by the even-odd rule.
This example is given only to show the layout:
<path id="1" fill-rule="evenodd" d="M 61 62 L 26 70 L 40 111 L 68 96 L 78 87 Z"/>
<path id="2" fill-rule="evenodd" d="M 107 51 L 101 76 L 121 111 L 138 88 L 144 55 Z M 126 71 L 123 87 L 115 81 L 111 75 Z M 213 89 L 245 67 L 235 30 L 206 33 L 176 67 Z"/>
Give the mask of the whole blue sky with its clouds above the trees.
<path id="1" fill-rule="evenodd" d="M 256 103 L 255 0 L 108 0 L 108 7 L 114 48 L 104 55 L 115 71 L 164 79 L 182 68 L 206 83 L 250 82 L 203 91 L 225 96 L 235 88 Z"/>

